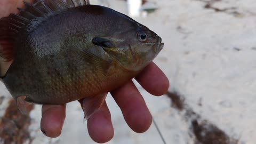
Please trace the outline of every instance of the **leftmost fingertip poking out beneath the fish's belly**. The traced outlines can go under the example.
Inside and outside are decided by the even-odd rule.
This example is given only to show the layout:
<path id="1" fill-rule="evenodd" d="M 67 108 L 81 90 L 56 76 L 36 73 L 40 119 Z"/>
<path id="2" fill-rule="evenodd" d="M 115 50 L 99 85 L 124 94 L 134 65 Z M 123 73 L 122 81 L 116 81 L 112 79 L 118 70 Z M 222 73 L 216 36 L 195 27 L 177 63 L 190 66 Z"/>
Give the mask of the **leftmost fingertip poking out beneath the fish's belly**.
<path id="1" fill-rule="evenodd" d="M 41 131 L 51 138 L 59 137 L 66 117 L 66 105 L 43 105 Z"/>

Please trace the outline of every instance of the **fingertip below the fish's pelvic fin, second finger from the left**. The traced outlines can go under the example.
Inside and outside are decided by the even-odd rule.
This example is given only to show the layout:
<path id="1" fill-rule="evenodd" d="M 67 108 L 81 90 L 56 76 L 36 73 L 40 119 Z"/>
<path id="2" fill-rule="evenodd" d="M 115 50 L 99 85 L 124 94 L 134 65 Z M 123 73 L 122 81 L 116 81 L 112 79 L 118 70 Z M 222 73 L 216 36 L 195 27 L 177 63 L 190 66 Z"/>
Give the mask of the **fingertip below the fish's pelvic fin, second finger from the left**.
<path id="1" fill-rule="evenodd" d="M 87 120 L 87 129 L 95 142 L 104 143 L 113 138 L 114 128 L 106 102 Z"/>

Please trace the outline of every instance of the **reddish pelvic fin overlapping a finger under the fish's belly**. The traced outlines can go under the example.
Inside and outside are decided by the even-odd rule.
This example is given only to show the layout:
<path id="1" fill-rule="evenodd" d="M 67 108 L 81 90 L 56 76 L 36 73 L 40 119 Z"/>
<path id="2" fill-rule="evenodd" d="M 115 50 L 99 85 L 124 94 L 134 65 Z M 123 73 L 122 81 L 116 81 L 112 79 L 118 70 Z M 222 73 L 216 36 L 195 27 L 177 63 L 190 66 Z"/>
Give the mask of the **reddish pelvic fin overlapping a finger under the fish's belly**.
<path id="1" fill-rule="evenodd" d="M 84 119 L 89 119 L 93 113 L 101 108 L 108 93 L 102 93 L 93 97 L 84 98 L 81 105 L 84 110 Z"/>

